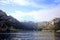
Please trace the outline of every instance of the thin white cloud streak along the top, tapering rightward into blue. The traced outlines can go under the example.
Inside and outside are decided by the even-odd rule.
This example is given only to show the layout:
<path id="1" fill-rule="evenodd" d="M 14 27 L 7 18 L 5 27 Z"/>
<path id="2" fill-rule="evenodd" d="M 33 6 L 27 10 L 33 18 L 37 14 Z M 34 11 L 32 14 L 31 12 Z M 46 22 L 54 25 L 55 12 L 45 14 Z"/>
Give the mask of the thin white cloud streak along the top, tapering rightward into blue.
<path id="1" fill-rule="evenodd" d="M 45 0 L 41 0 L 40 2 L 43 2 L 43 1 Z M 12 4 L 12 5 L 16 4 L 20 6 L 32 6 L 32 7 L 37 7 L 37 8 L 49 8 L 55 5 L 55 4 L 44 5 L 43 3 L 37 4 L 33 0 L 1 0 L 0 1 L 0 5 L 6 5 L 6 4 Z"/>

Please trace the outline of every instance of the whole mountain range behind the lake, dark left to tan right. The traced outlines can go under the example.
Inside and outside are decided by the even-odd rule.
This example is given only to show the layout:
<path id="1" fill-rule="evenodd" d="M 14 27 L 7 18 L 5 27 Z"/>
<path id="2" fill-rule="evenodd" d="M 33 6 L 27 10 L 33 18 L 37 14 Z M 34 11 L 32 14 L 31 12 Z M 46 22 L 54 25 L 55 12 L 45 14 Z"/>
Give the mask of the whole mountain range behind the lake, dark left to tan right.
<path id="1" fill-rule="evenodd" d="M 8 16 L 0 10 L 0 31 L 1 30 L 60 30 L 60 18 L 52 19 L 49 22 L 20 22 L 12 16 Z"/>

